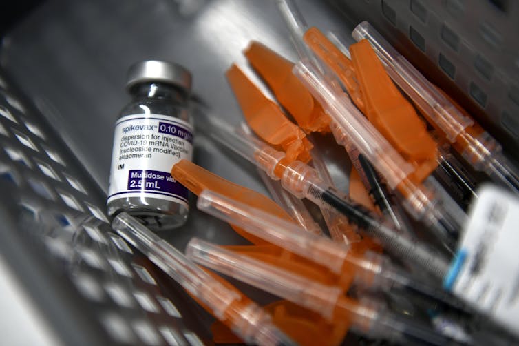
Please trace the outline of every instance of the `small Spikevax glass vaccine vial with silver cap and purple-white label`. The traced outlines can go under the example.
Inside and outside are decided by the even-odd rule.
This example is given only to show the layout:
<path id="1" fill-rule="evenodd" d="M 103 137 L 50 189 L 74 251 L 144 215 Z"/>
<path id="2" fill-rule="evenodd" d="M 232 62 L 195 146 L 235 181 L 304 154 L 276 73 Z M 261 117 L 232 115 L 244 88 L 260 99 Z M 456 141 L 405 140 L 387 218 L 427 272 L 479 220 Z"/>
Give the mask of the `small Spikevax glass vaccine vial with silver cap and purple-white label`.
<path id="1" fill-rule="evenodd" d="M 115 125 L 108 214 L 127 212 L 156 231 L 180 227 L 188 190 L 170 172 L 193 155 L 191 74 L 174 63 L 142 61 L 129 68 L 126 88 L 131 102 Z"/>

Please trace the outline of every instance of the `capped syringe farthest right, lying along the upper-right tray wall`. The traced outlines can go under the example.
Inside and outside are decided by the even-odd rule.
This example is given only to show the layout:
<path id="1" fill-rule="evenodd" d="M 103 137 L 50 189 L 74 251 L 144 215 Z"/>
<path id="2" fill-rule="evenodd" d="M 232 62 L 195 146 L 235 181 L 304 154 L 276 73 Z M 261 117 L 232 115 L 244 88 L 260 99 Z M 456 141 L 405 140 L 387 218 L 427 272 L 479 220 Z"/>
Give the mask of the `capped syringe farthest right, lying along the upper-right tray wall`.
<path id="1" fill-rule="evenodd" d="M 488 132 L 438 92 L 370 23 L 360 23 L 352 36 L 357 41 L 370 41 L 393 81 L 475 170 L 485 172 L 496 183 L 519 193 L 517 168 L 502 154 L 501 145 Z"/>

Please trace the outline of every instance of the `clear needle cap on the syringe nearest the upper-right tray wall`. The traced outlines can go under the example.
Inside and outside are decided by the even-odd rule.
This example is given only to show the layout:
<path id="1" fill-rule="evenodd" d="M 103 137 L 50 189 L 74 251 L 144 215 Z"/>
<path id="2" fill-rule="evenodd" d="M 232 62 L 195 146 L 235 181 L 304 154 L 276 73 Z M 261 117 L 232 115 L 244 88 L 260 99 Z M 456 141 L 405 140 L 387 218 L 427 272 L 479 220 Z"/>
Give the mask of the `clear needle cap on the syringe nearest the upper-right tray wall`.
<path id="1" fill-rule="evenodd" d="M 353 30 L 352 36 L 357 41 L 370 41 L 390 77 L 421 110 L 427 113 L 427 118 L 444 132 L 449 141 L 454 143 L 460 132 L 474 124 L 472 119 L 461 114 L 452 102 L 438 92 L 407 59 L 385 41 L 370 23 L 360 23 Z"/>

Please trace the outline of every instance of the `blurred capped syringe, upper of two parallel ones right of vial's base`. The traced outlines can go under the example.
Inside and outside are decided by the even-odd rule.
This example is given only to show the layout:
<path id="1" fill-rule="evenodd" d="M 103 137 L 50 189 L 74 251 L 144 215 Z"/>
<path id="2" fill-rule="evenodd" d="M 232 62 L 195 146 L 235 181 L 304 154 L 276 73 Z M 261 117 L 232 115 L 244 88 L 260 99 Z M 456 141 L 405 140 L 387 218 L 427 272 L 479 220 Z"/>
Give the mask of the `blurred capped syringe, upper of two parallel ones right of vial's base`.
<path id="1" fill-rule="evenodd" d="M 258 238 L 308 258 L 328 268 L 339 278 L 353 274 L 356 282 L 363 287 L 381 289 L 385 292 L 389 292 L 392 287 L 405 287 L 447 303 L 452 300 L 447 294 L 436 292 L 436 289 L 412 280 L 402 269 L 392 265 L 388 258 L 380 254 L 374 252 L 357 254 L 344 244 L 336 243 L 324 236 L 304 232 L 295 223 L 282 220 L 211 190 L 204 190 L 198 196 L 197 207 L 222 221 L 242 227 Z M 421 250 L 424 252 L 424 258 L 429 257 L 427 270 L 438 279 L 438 283 L 441 282 L 449 267 L 447 261 L 441 256 L 434 256 L 431 252 L 427 252 L 425 248 Z"/>

